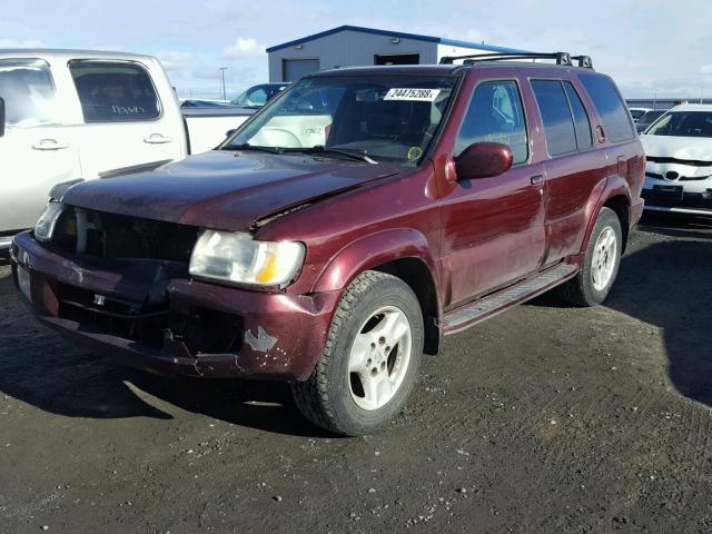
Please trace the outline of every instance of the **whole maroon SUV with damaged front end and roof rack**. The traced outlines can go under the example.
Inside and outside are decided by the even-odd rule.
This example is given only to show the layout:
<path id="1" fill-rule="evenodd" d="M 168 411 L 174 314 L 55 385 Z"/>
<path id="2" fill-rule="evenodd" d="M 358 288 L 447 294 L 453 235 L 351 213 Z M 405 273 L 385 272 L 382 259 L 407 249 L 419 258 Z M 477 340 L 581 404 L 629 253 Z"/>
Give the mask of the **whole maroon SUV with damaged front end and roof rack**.
<path id="1" fill-rule="evenodd" d="M 613 81 L 491 59 L 315 73 L 216 150 L 60 186 L 16 283 L 98 354 L 288 380 L 314 423 L 372 432 L 444 334 L 556 286 L 601 303 L 642 211 Z"/>

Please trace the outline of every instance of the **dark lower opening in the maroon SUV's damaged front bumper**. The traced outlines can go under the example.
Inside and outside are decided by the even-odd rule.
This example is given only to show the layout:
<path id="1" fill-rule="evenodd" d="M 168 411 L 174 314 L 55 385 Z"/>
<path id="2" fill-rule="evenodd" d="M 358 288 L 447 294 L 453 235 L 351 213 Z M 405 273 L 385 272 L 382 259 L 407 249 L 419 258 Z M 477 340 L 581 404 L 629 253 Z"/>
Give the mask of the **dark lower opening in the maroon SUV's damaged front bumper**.
<path id="1" fill-rule="evenodd" d="M 192 356 L 238 353 L 243 318 L 190 306 L 185 313 L 161 304 L 130 303 L 70 286 L 57 285 L 58 316 L 102 334 L 162 349 L 166 336 L 185 343 Z"/>

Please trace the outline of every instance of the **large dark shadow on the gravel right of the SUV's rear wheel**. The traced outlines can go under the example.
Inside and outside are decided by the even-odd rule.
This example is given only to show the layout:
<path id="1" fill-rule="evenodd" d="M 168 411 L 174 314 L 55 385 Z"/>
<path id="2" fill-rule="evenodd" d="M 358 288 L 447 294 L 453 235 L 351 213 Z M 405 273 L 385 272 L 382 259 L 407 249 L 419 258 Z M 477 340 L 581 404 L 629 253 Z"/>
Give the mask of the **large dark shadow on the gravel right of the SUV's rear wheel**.
<path id="1" fill-rule="evenodd" d="M 712 218 L 645 216 L 636 230 L 674 239 L 630 246 L 605 306 L 662 328 L 672 384 L 712 407 Z M 532 304 L 567 307 L 555 291 Z"/>

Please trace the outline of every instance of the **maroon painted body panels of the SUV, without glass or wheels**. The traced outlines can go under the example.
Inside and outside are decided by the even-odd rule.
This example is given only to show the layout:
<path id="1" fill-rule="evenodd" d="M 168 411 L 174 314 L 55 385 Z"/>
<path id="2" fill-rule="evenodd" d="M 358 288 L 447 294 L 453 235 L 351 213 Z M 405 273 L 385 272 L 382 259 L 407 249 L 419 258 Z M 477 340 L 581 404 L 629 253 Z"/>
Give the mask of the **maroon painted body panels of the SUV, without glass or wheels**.
<path id="1" fill-rule="evenodd" d="M 175 313 L 195 305 L 240 315 L 246 330 L 257 334 L 263 327 L 277 338 L 271 349 L 243 345 L 239 354 L 197 356 L 167 339 L 164 350 L 156 350 L 59 319 L 56 280 L 137 298 L 150 288 L 138 267 L 130 273 L 60 257 L 26 234 L 16 238 L 12 253 L 20 263 L 29 260 L 34 312 L 95 350 L 151 370 L 304 379 L 322 353 L 343 290 L 365 269 L 403 258 L 421 261 L 432 274 L 439 316 L 557 261 L 580 266 L 595 216 L 613 198 L 624 200 L 630 226 L 640 218 L 644 156 L 637 139 L 599 139 L 593 149 L 563 158 L 546 154 L 530 77 L 572 81 L 592 129 L 602 127 L 575 69 L 484 65 L 398 70 L 462 77 L 436 146 L 417 168 L 216 151 L 148 175 L 75 186 L 65 195 L 68 204 L 98 210 L 227 230 L 251 228 L 257 239 L 305 243 L 301 273 L 283 290 L 185 279 L 168 287 Z M 530 160 L 496 177 L 458 180 L 452 152 L 459 125 L 476 85 L 493 79 L 520 86 Z M 543 181 L 532 180 L 540 176 Z M 299 209 L 279 216 L 293 207 Z M 256 224 L 270 216 L 276 217 Z"/>

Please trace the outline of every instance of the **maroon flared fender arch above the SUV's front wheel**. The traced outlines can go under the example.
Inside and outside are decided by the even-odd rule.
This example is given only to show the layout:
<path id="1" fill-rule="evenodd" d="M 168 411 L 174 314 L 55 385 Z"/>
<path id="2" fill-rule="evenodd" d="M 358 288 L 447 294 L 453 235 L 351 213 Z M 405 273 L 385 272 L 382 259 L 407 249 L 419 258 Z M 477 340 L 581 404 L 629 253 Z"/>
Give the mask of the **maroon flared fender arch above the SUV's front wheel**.
<path id="1" fill-rule="evenodd" d="M 425 263 L 438 291 L 439 280 L 427 238 L 412 228 L 394 228 L 372 234 L 342 248 L 319 275 L 314 293 L 343 290 L 364 270 L 404 258 L 417 258 Z"/>

